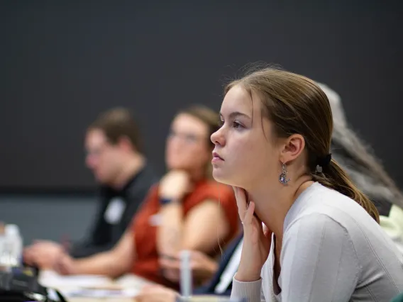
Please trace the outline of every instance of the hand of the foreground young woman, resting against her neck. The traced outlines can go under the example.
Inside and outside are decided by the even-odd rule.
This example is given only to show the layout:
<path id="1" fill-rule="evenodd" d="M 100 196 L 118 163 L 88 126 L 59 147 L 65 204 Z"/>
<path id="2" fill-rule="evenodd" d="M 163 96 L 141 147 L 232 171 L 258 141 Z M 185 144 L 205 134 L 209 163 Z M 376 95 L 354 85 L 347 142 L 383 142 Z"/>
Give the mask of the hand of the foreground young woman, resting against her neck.
<path id="1" fill-rule="evenodd" d="M 260 272 L 270 252 L 272 232 L 263 229 L 263 223 L 254 216 L 255 203 L 247 200 L 244 189 L 233 187 L 239 218 L 243 224 L 243 246 L 241 262 L 236 280 L 243 282 L 260 279 Z"/>

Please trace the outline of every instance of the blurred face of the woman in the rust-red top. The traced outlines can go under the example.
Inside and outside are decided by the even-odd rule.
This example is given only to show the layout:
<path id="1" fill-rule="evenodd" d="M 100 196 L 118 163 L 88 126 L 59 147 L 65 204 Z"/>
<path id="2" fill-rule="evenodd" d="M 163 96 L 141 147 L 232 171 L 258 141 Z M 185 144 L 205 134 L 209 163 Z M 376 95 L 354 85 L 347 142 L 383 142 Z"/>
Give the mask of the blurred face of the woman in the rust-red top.
<path id="1" fill-rule="evenodd" d="M 165 152 L 167 168 L 189 172 L 205 169 L 211 160 L 208 136 L 208 126 L 198 118 L 186 113 L 176 116 L 167 138 Z"/>

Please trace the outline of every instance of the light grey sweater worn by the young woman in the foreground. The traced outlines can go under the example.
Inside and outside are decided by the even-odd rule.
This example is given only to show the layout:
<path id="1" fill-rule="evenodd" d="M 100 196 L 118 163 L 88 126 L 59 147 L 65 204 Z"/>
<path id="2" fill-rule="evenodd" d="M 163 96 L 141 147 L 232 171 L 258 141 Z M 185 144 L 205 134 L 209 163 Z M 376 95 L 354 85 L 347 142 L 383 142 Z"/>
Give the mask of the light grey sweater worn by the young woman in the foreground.
<path id="1" fill-rule="evenodd" d="M 284 222 L 280 292 L 274 250 L 261 279 L 233 279 L 231 297 L 248 302 L 385 301 L 403 291 L 403 257 L 355 201 L 319 183 L 309 186 Z M 272 245 L 273 246 L 273 245 Z"/>

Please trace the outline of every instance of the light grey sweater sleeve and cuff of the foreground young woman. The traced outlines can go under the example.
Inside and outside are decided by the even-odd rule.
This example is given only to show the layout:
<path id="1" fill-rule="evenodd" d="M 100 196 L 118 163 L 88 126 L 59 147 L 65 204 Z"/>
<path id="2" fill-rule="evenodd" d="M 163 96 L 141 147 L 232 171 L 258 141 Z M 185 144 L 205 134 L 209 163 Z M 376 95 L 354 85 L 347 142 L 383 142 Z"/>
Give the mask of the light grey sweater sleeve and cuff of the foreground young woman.
<path id="1" fill-rule="evenodd" d="M 270 257 L 270 256 L 269 256 Z M 274 259 L 273 259 L 274 261 Z M 279 299 L 282 302 L 350 301 L 360 267 L 345 228 L 324 214 L 311 214 L 287 228 L 280 257 Z M 271 293 L 272 265 L 263 266 L 262 279 L 240 282 L 233 278 L 231 297 L 260 302 L 276 301 Z"/>

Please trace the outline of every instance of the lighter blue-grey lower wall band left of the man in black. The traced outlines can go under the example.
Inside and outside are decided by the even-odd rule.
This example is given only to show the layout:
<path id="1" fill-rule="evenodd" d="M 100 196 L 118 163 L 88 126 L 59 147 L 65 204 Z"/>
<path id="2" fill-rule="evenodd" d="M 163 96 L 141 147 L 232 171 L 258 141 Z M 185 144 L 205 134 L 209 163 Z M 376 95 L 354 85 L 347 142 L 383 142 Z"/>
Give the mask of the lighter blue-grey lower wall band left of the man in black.
<path id="1" fill-rule="evenodd" d="M 45 239 L 80 240 L 96 213 L 96 198 L 88 196 L 0 196 L 0 221 L 15 223 L 25 245 Z"/>

